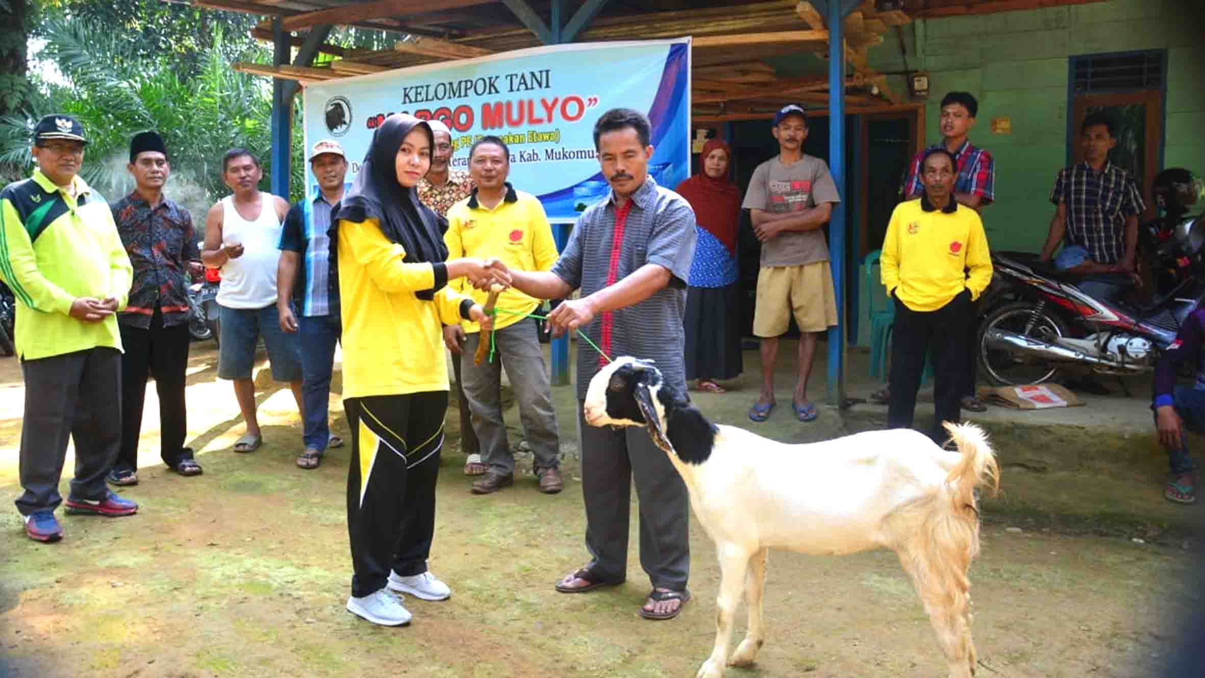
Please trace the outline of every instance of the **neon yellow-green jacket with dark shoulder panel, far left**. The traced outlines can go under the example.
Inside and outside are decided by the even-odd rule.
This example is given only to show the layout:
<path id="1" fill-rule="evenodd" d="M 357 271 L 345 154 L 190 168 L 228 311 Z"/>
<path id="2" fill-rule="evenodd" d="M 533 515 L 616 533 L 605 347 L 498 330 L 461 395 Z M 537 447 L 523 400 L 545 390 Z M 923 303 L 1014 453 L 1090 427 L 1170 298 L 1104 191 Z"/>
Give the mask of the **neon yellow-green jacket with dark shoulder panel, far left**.
<path id="1" fill-rule="evenodd" d="M 80 297 L 112 297 L 124 309 L 134 282 L 108 204 L 78 176 L 72 182 L 75 198 L 34 170 L 0 192 L 0 279 L 17 299 L 13 340 L 23 360 L 122 350 L 116 314 L 101 322 L 70 315 Z"/>

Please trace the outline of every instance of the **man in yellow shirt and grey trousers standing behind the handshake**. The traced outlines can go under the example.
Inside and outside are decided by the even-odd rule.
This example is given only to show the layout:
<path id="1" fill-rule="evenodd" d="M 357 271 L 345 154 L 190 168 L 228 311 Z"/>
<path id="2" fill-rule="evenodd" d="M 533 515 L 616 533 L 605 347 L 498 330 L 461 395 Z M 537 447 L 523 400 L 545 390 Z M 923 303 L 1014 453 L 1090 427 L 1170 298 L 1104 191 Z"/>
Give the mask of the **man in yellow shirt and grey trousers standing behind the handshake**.
<path id="1" fill-rule="evenodd" d="M 506 176 L 510 150 L 496 136 L 483 136 L 469 150 L 469 174 L 476 185 L 469 198 L 448 210 L 448 230 L 443 241 L 448 258 L 496 258 L 512 270 L 548 270 L 557 263 L 557 245 L 552 227 L 540 200 L 516 191 Z M 472 290 L 464 279 L 451 284 L 480 304 L 486 293 Z M 560 466 L 560 437 L 557 413 L 552 407 L 552 386 L 533 312 L 540 302 L 511 287 L 498 297 L 500 312 L 494 321 L 493 362 L 476 364 L 474 353 L 482 338 L 481 328 L 463 321 L 443 328 L 443 339 L 452 360 L 460 361 L 464 394 L 472 413 L 472 427 L 481 440 L 482 461 L 489 467 L 472 484 L 475 495 L 496 492 L 515 483 L 515 455 L 506 440 L 502 421 L 501 368 L 506 368 L 518 401 L 523 432 L 535 456 L 535 474 L 540 491 L 553 495 L 564 487 Z"/>

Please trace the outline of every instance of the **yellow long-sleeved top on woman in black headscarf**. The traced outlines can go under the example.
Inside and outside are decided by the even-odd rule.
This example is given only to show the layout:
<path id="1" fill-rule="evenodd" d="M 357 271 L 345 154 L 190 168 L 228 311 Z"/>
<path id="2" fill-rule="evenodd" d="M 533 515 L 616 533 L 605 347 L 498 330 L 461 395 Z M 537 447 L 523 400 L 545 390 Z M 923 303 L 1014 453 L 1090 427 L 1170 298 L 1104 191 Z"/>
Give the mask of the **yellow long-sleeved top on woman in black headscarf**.
<path id="1" fill-rule="evenodd" d="M 447 286 L 419 299 L 443 264 L 402 262 L 375 218 L 340 221 L 337 250 L 343 397 L 447 391 L 442 325 L 459 322 L 471 299 Z"/>

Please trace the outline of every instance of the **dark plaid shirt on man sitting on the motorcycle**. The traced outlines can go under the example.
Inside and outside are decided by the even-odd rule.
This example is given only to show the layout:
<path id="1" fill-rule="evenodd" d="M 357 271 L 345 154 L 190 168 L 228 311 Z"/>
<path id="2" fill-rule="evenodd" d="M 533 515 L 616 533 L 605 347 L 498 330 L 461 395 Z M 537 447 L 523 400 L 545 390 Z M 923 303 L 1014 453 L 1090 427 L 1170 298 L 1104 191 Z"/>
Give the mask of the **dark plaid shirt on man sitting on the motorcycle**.
<path id="1" fill-rule="evenodd" d="M 1094 171 L 1088 163 L 1059 170 L 1051 203 L 1066 205 L 1066 245 L 1078 245 L 1098 264 L 1115 264 L 1125 253 L 1125 220 L 1146 205 L 1125 170 L 1105 163 Z"/>

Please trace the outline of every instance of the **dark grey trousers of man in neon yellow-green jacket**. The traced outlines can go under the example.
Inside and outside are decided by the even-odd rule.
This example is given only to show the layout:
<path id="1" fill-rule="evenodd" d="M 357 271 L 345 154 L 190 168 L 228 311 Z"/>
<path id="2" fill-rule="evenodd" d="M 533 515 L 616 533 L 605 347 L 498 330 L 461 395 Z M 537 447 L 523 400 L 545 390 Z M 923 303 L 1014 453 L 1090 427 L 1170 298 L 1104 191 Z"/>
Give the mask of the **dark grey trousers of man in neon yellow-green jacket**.
<path id="1" fill-rule="evenodd" d="M 104 499 L 105 475 L 122 446 L 122 353 L 98 347 L 24 361 L 25 419 L 20 425 L 20 486 L 17 510 L 54 510 L 59 479 L 75 440 L 71 496 Z"/>

